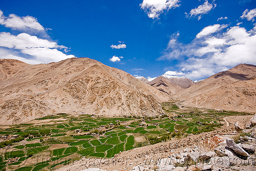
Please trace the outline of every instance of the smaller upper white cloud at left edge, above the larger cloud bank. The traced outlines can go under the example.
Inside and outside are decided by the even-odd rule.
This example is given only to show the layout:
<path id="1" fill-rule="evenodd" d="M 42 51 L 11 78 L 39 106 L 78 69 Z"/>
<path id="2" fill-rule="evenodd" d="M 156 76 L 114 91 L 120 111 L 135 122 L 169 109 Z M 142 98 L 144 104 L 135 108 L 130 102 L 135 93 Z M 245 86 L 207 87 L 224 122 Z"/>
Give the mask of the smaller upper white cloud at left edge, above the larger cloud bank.
<path id="1" fill-rule="evenodd" d="M 3 11 L 0 10 L 0 24 L 5 27 L 12 29 L 34 29 L 38 31 L 44 31 L 44 27 L 42 27 L 37 19 L 32 16 L 24 16 L 19 17 L 15 14 L 10 14 L 8 17 L 3 15 Z"/>

